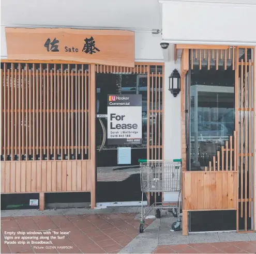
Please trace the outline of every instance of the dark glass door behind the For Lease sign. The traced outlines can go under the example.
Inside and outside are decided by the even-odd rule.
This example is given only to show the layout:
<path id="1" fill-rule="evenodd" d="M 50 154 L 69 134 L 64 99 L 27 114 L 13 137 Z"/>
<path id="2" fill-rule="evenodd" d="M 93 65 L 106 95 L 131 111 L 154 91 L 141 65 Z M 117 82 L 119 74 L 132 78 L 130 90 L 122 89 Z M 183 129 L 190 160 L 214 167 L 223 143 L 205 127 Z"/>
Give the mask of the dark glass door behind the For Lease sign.
<path id="1" fill-rule="evenodd" d="M 147 157 L 147 75 L 96 74 L 97 202 L 141 201 L 139 158 Z M 108 94 L 142 95 L 142 144 L 109 145 Z M 130 163 L 118 163 L 118 148 L 130 147 Z"/>

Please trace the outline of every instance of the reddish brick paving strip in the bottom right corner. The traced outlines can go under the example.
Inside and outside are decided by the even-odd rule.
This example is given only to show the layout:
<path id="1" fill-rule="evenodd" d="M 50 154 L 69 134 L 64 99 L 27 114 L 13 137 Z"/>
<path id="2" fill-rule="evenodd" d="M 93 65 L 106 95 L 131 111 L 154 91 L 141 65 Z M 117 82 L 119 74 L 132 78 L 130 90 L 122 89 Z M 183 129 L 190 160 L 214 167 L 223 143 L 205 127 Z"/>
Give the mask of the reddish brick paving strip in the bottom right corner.
<path id="1" fill-rule="evenodd" d="M 159 245 L 153 253 L 256 253 L 256 241 Z"/>

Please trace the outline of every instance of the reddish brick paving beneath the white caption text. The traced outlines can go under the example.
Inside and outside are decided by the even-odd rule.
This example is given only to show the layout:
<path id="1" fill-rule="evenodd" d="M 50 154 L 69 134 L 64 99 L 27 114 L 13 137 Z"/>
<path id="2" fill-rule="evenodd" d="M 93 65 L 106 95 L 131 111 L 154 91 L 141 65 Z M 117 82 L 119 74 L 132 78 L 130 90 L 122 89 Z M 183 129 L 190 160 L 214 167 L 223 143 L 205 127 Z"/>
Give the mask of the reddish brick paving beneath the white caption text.
<path id="1" fill-rule="evenodd" d="M 146 219 L 145 227 L 153 220 Z M 1 253 L 117 253 L 139 234 L 138 228 L 135 213 L 2 217 Z M 59 232 L 59 235 L 61 232 L 70 233 L 58 240 L 26 240 L 52 241 L 52 244 L 27 244 L 25 240 L 4 239 L 8 236 L 5 231 L 16 232 L 14 236 L 18 231 L 25 232 L 21 237 L 31 236 L 29 231 L 43 233 L 43 230 Z M 25 244 L 6 244 L 5 241 L 25 241 Z M 43 248 L 35 248 L 38 246 Z M 52 249 L 46 249 L 46 246 Z M 72 246 L 72 249 L 58 249 L 58 246 Z"/>

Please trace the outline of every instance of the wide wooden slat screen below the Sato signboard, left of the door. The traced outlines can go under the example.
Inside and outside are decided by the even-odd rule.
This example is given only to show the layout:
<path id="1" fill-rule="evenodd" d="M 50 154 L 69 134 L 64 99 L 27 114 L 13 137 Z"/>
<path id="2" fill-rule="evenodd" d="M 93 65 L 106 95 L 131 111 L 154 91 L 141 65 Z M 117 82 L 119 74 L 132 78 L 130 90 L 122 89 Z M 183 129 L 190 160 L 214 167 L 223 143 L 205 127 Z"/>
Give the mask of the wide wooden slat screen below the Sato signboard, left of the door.
<path id="1" fill-rule="evenodd" d="M 2 161 L 90 158 L 89 66 L 1 63 Z"/>

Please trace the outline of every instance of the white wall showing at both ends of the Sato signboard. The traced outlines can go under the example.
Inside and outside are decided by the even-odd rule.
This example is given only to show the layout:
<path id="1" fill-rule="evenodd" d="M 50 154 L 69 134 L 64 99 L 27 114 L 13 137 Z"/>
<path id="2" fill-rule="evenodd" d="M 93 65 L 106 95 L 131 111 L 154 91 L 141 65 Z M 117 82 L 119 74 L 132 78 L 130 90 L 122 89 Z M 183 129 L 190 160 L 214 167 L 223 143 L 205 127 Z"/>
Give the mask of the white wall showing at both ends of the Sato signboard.
<path id="1" fill-rule="evenodd" d="M 135 61 L 162 62 L 161 35 L 151 31 L 135 31 Z M 5 27 L 1 26 L 1 58 L 7 58 Z"/>

